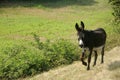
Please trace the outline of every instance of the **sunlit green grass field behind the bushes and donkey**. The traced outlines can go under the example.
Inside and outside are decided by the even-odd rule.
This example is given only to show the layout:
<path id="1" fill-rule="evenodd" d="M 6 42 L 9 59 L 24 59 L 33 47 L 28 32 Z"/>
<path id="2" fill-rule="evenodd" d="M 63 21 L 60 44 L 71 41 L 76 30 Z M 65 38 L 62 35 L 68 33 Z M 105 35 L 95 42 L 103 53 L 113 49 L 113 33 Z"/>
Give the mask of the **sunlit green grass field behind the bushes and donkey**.
<path id="1" fill-rule="evenodd" d="M 0 3 L 0 54 L 13 45 L 31 47 L 33 34 L 43 42 L 67 39 L 77 45 L 75 23 L 80 21 L 86 29 L 104 28 L 106 50 L 110 50 L 120 45 L 120 35 L 115 32 L 112 20 L 107 0 Z"/>

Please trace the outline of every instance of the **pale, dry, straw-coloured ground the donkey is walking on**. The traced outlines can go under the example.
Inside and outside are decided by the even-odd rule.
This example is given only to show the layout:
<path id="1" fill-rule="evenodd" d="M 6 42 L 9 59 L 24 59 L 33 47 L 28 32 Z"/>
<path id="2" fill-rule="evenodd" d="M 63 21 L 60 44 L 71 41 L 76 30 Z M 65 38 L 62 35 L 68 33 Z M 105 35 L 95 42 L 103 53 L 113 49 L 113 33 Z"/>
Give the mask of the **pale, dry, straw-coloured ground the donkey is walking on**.
<path id="1" fill-rule="evenodd" d="M 77 61 L 24 80 L 120 80 L 120 47 L 105 52 L 104 64 L 100 64 L 101 56 L 98 56 L 97 65 L 93 67 L 93 60 L 94 57 L 89 71 Z"/>

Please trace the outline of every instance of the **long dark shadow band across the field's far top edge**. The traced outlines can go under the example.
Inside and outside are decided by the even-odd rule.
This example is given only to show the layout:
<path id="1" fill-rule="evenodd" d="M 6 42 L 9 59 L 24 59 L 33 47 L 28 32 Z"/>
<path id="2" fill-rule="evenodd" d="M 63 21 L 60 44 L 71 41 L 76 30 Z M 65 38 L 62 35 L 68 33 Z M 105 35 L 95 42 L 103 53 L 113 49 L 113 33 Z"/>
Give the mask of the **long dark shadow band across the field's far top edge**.
<path id="1" fill-rule="evenodd" d="M 3 0 L 0 1 L 0 8 L 16 7 L 45 7 L 60 8 L 69 5 L 91 6 L 97 3 L 94 0 Z"/>

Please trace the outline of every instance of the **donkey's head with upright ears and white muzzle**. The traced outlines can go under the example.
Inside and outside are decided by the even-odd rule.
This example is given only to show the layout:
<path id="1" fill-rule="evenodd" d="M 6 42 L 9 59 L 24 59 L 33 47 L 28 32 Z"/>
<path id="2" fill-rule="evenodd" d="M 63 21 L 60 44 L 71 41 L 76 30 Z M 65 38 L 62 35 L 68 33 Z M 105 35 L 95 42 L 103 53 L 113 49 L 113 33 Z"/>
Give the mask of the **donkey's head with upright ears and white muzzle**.
<path id="1" fill-rule="evenodd" d="M 78 43 L 79 46 L 82 48 L 84 46 L 84 38 L 85 38 L 85 34 L 84 34 L 84 23 L 81 21 L 81 27 L 79 27 L 78 23 L 75 24 L 75 28 L 77 30 L 77 35 L 78 35 Z"/>

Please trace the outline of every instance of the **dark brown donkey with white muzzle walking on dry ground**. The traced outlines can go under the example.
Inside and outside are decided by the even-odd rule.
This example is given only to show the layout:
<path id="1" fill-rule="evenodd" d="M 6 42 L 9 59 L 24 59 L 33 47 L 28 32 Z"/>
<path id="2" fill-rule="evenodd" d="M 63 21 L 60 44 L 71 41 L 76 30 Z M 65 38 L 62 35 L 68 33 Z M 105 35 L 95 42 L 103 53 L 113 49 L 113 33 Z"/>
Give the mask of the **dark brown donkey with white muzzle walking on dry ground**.
<path id="1" fill-rule="evenodd" d="M 95 53 L 95 59 L 93 66 L 96 65 L 97 61 L 97 50 L 101 49 L 101 63 L 104 63 L 104 48 L 106 43 L 106 32 L 103 28 L 98 28 L 96 30 L 85 30 L 84 29 L 84 23 L 81 21 L 81 27 L 79 27 L 78 23 L 75 24 L 75 28 L 77 30 L 78 35 L 78 43 L 79 46 L 82 48 L 82 56 L 81 61 L 82 64 L 87 66 L 87 70 L 90 70 L 90 62 L 91 62 L 91 55 L 94 51 Z M 89 50 L 88 54 L 88 65 L 84 61 L 85 52 L 86 50 Z"/>

